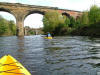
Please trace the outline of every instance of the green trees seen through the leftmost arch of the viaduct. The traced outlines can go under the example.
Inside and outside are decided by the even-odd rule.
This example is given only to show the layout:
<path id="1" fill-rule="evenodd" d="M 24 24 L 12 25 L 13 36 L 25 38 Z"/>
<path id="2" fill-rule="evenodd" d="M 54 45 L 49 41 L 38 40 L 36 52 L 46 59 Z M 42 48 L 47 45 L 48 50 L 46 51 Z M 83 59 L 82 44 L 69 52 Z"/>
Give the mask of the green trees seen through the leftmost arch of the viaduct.
<path id="1" fill-rule="evenodd" d="M 15 35 L 16 26 L 13 21 L 8 21 L 0 16 L 0 36 L 2 35 Z"/>

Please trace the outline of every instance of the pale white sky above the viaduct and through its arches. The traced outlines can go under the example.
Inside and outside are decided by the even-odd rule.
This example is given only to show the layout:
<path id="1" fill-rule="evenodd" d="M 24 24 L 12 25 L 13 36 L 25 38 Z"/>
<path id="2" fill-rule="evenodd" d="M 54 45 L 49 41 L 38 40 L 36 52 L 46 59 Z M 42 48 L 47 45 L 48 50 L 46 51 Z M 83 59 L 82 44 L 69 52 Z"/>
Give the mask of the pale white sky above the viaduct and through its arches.
<path id="1" fill-rule="evenodd" d="M 69 9 L 69 10 L 76 10 L 76 11 L 89 10 L 93 4 L 100 6 L 100 0 L 0 0 L 0 2 L 50 6 L 50 7 L 58 7 L 60 9 Z M 0 15 L 1 14 L 2 14 L 2 16 L 6 15 L 8 20 L 15 19 L 13 16 L 9 17 L 9 15 L 7 15 L 6 13 L 0 12 Z M 27 25 L 27 26 L 31 26 L 33 28 L 42 27 L 43 23 L 42 23 L 41 19 L 43 19 L 43 15 L 40 15 L 40 14 L 34 14 L 31 16 L 29 15 L 25 19 L 24 26 Z M 32 21 L 32 20 L 34 20 L 34 21 Z M 14 21 L 16 21 L 16 20 L 14 20 Z M 31 22 L 34 22 L 34 23 L 31 23 Z M 34 26 L 32 26 L 32 25 L 34 25 Z M 39 26 L 37 26 L 37 25 L 39 25 Z"/>

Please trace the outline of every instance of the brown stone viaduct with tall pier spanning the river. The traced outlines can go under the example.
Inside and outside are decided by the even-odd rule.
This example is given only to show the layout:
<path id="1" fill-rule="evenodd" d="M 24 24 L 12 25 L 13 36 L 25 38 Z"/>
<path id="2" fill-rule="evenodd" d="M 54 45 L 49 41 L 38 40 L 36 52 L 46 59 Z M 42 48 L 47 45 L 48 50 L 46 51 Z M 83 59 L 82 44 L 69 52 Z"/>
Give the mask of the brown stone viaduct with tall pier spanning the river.
<path id="1" fill-rule="evenodd" d="M 57 9 L 54 7 L 47 7 L 47 6 L 34 6 L 34 5 L 25 5 L 25 4 L 19 4 L 19 3 L 0 3 L 0 11 L 6 11 L 11 13 L 16 18 L 16 26 L 17 26 L 17 35 L 18 36 L 24 36 L 24 19 L 32 14 L 32 13 L 40 13 L 45 14 L 47 11 L 53 11 L 56 10 L 59 13 L 62 13 L 67 16 L 73 16 L 78 17 L 82 13 L 79 11 L 73 11 L 73 10 L 63 10 L 63 9 Z"/>

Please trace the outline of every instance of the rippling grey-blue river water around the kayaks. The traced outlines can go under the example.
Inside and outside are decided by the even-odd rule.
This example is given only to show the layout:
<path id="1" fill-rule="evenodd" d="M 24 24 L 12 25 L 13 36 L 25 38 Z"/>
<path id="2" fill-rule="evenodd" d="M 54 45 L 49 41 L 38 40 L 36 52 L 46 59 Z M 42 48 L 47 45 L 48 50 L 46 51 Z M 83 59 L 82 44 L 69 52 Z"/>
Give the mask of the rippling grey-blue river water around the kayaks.
<path id="1" fill-rule="evenodd" d="M 0 57 L 11 54 L 32 75 L 97 75 L 100 38 L 85 36 L 0 37 Z"/>

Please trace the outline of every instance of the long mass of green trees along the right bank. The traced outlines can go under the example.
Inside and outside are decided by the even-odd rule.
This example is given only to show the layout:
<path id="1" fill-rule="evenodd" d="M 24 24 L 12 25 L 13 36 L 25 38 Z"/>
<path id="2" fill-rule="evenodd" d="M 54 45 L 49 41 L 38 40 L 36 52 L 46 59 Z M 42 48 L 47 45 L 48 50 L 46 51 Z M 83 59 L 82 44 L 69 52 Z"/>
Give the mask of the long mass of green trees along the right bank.
<path id="1" fill-rule="evenodd" d="M 45 32 L 58 35 L 66 32 L 80 35 L 100 35 L 100 7 L 94 5 L 77 18 L 62 16 L 57 11 L 48 11 L 44 16 L 43 23 Z"/>

